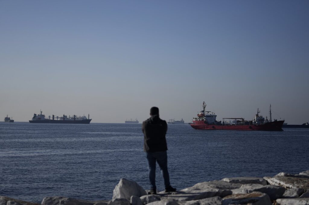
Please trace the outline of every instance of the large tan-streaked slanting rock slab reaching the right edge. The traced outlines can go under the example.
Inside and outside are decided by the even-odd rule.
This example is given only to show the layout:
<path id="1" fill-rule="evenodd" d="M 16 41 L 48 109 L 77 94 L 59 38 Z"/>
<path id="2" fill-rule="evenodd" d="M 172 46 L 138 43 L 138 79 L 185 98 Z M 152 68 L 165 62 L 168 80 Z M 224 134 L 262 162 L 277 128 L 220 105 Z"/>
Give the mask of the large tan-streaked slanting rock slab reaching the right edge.
<path id="1" fill-rule="evenodd" d="M 309 178 L 298 177 L 264 177 L 271 185 L 283 186 L 284 188 L 302 188 L 309 190 Z"/>

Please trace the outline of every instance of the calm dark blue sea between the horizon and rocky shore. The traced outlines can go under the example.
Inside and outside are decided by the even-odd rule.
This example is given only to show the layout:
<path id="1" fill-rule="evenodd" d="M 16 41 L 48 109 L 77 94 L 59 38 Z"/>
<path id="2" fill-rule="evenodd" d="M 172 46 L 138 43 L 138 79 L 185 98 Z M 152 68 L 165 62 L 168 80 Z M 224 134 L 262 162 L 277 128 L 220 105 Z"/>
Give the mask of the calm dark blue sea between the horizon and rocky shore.
<path id="1" fill-rule="evenodd" d="M 309 169 L 309 129 L 194 130 L 168 125 L 168 166 L 178 190 L 237 176 Z M 141 124 L 0 123 L 0 195 L 111 199 L 120 178 L 149 189 Z M 164 189 L 157 167 L 157 187 Z"/>

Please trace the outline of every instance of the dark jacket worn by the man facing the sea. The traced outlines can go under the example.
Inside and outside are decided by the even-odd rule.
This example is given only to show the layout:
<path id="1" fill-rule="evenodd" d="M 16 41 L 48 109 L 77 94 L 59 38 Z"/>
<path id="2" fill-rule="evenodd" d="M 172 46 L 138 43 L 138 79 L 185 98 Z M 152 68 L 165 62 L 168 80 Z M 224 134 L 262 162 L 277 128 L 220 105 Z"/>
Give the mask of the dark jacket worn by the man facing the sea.
<path id="1" fill-rule="evenodd" d="M 162 152 L 167 150 L 165 134 L 167 123 L 159 118 L 159 115 L 152 115 L 142 125 L 144 133 L 144 152 Z"/>

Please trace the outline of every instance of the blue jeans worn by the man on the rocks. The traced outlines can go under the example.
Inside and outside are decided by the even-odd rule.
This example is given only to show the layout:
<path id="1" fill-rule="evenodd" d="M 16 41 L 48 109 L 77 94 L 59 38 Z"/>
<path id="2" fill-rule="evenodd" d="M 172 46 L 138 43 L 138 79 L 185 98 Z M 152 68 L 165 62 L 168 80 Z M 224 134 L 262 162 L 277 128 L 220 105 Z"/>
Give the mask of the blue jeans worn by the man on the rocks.
<path id="1" fill-rule="evenodd" d="M 164 185 L 165 188 L 171 186 L 170 185 L 170 177 L 168 175 L 167 171 L 167 153 L 164 152 L 146 152 L 146 158 L 148 161 L 148 169 L 149 169 L 149 182 L 150 182 L 150 188 L 156 189 L 155 186 L 155 167 L 156 167 L 156 161 L 159 164 L 159 167 L 162 171 L 162 176 L 164 179 Z"/>

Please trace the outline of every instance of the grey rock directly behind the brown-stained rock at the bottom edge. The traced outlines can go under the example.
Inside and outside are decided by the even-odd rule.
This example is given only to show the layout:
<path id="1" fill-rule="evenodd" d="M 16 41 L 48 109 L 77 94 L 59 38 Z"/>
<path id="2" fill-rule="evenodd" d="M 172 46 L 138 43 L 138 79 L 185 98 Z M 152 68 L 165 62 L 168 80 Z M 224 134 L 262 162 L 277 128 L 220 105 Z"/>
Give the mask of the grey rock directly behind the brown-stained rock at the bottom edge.
<path id="1" fill-rule="evenodd" d="M 281 186 L 261 185 L 261 184 L 243 184 L 239 189 L 231 190 L 233 194 L 247 194 L 259 191 L 269 195 L 270 200 L 282 198 L 286 189 Z"/>

